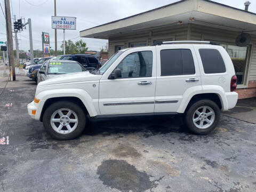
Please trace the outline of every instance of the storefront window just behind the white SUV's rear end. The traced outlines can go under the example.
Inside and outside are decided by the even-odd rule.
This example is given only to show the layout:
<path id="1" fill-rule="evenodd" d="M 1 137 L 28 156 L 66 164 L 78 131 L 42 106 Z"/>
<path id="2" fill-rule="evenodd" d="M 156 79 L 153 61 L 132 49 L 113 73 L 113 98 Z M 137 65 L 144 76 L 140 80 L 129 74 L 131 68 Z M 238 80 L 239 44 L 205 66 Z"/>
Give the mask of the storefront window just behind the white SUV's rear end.
<path id="1" fill-rule="evenodd" d="M 246 69 L 246 63 L 247 63 L 247 55 L 249 47 L 239 47 L 235 45 L 225 45 L 221 44 L 224 49 L 229 54 L 229 57 L 231 58 L 235 71 L 237 76 L 237 84 L 241 85 L 244 84 L 245 81 L 245 69 Z"/>

